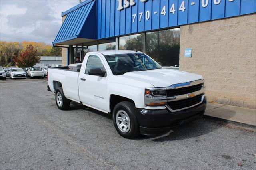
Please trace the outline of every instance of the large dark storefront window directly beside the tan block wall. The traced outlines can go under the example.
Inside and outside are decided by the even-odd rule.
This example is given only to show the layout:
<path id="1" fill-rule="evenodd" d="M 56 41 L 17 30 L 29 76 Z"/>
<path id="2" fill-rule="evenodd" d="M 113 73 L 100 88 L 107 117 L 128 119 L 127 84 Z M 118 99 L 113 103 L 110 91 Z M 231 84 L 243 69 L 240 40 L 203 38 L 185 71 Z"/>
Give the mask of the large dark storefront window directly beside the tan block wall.
<path id="1" fill-rule="evenodd" d="M 179 65 L 180 28 L 146 33 L 146 54 L 162 66 Z"/>

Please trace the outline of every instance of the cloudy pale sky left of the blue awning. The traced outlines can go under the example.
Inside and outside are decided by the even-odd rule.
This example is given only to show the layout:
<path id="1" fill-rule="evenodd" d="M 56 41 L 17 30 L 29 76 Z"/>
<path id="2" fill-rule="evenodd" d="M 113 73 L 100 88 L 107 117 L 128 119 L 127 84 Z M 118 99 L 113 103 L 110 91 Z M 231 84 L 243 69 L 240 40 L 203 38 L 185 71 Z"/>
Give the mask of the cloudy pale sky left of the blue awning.
<path id="1" fill-rule="evenodd" d="M 0 40 L 52 44 L 61 12 L 77 4 L 79 0 L 0 0 Z"/>

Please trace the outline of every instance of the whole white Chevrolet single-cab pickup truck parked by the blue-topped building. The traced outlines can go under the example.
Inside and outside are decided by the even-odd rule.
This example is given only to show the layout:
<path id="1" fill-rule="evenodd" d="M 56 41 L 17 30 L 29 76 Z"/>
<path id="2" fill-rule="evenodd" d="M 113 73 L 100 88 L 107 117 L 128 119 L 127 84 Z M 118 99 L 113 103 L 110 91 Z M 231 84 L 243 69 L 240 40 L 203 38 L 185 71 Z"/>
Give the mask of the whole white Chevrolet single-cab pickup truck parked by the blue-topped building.
<path id="1" fill-rule="evenodd" d="M 82 67 L 48 68 L 48 90 L 66 110 L 75 101 L 112 115 L 125 138 L 156 135 L 202 117 L 206 109 L 204 77 L 163 69 L 134 51 L 86 54 Z"/>

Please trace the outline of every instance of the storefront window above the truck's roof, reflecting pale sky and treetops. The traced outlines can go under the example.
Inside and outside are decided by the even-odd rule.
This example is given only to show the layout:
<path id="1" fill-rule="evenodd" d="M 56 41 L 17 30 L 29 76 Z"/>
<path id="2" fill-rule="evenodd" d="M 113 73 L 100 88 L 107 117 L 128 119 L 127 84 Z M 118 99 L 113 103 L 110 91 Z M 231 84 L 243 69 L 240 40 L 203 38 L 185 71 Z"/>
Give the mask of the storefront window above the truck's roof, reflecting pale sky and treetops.
<path id="1" fill-rule="evenodd" d="M 119 49 L 143 52 L 143 34 L 119 37 Z"/>

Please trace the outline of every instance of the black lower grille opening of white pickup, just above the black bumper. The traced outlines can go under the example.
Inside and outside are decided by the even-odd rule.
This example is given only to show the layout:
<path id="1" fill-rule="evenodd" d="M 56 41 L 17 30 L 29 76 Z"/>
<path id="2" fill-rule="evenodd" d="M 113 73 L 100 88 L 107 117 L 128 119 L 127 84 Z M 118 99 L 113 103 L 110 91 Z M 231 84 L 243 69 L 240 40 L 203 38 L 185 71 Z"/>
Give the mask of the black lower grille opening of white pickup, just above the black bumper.
<path id="1" fill-rule="evenodd" d="M 169 105 L 170 108 L 172 108 L 172 110 L 178 110 L 178 109 L 183 109 L 183 108 L 190 107 L 200 103 L 201 98 L 202 98 L 202 95 L 197 95 L 187 99 L 170 101 L 167 104 Z"/>

